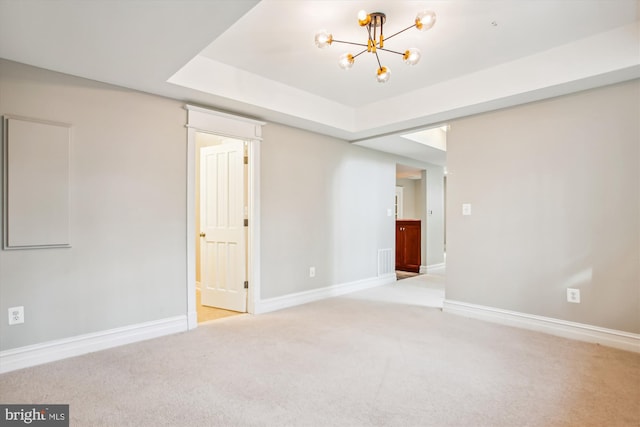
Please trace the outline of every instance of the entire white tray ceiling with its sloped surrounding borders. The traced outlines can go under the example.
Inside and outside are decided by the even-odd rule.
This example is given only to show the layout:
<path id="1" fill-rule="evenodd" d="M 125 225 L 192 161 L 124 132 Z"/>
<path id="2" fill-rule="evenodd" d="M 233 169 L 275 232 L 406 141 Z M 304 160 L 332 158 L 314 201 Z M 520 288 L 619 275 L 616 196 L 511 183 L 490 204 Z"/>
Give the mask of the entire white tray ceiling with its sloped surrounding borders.
<path id="1" fill-rule="evenodd" d="M 0 57 L 444 164 L 397 134 L 640 77 L 639 3 L 0 0 Z M 433 10 L 431 30 L 386 43 L 421 62 L 382 52 L 385 84 L 370 54 L 339 69 L 349 48 L 318 49 L 314 34 L 366 40 L 360 9 L 386 13 L 387 35 Z"/>

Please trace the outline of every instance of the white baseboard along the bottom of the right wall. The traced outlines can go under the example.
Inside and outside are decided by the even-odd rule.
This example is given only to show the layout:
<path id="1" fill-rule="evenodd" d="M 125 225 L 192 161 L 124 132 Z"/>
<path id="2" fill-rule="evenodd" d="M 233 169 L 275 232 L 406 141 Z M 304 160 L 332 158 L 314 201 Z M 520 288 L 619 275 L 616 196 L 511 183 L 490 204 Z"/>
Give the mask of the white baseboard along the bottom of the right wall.
<path id="1" fill-rule="evenodd" d="M 445 300 L 443 311 L 640 353 L 640 335 L 551 317 Z"/>

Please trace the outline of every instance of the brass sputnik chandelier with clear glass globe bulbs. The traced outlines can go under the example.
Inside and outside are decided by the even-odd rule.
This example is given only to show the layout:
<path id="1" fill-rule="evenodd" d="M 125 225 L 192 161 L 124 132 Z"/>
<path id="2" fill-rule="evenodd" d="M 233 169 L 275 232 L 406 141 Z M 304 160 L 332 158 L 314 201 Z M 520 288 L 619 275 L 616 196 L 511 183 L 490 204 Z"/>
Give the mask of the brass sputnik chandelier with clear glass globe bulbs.
<path id="1" fill-rule="evenodd" d="M 385 83 L 391 76 L 391 70 L 382 65 L 382 63 L 380 62 L 380 57 L 378 56 L 378 51 L 381 50 L 384 52 L 391 52 L 400 55 L 402 56 L 402 60 L 405 64 L 417 64 L 418 61 L 420 61 L 420 51 L 418 49 L 410 48 L 405 50 L 404 52 L 398 52 L 395 50 L 386 49 L 384 47 L 384 43 L 390 38 L 395 37 L 398 34 L 403 33 L 413 27 L 417 28 L 420 31 L 428 30 L 436 23 L 436 14 L 431 11 L 420 12 L 416 16 L 415 23 L 413 25 L 410 25 L 407 28 L 400 30 L 388 37 L 385 37 L 383 33 L 383 26 L 386 20 L 387 16 L 382 12 L 367 13 L 366 11 L 361 10 L 360 12 L 358 12 L 358 24 L 360 24 L 361 27 L 365 27 L 367 30 L 368 38 L 366 43 L 336 40 L 333 38 L 333 35 L 331 33 L 327 32 L 327 30 L 320 30 L 316 33 L 316 46 L 318 46 L 319 48 L 324 48 L 332 43 L 343 43 L 363 47 L 364 49 L 356 53 L 355 55 L 351 53 L 342 54 L 338 60 L 338 65 L 340 66 L 340 68 L 348 70 L 353 66 L 355 59 L 358 56 L 362 55 L 365 52 L 372 53 L 375 55 L 376 61 L 378 62 L 376 79 L 380 83 Z"/>

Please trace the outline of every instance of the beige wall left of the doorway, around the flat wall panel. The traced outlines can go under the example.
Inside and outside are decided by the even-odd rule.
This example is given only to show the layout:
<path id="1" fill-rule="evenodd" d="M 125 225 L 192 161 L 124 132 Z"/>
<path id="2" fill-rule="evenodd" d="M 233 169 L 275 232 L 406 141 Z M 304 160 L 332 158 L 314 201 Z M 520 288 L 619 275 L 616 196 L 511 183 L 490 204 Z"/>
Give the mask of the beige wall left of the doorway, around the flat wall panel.
<path id="1" fill-rule="evenodd" d="M 184 315 L 183 104 L 0 60 L 0 114 L 72 125 L 72 247 L 0 251 L 0 349 Z"/>

